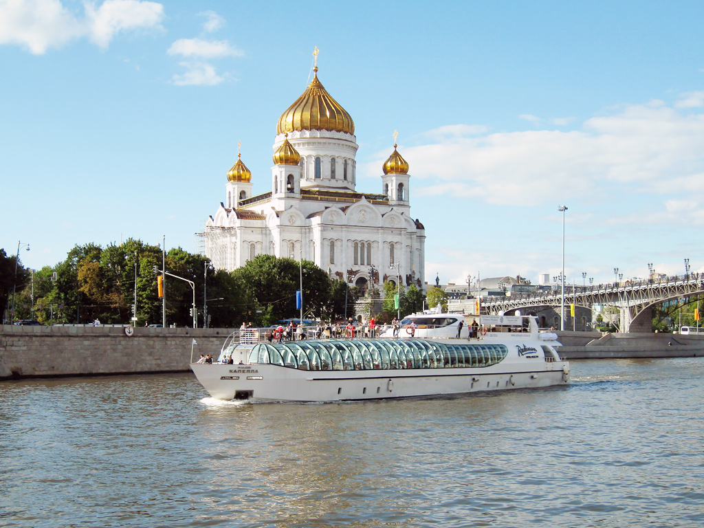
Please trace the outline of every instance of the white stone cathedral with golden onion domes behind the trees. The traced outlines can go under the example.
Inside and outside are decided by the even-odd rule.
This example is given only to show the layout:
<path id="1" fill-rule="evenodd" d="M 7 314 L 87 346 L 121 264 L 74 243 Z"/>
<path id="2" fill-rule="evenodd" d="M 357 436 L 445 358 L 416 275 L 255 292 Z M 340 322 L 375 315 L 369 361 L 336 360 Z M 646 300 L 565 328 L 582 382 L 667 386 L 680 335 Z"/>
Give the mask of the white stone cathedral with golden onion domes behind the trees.
<path id="1" fill-rule="evenodd" d="M 313 81 L 277 123 L 271 191 L 252 196 L 238 154 L 206 222 L 206 256 L 228 271 L 261 253 L 303 258 L 363 291 L 397 277 L 422 289 L 425 228 L 410 216 L 408 163 L 394 144 L 382 192 L 356 191 L 354 122 L 318 80 L 315 55 Z"/>

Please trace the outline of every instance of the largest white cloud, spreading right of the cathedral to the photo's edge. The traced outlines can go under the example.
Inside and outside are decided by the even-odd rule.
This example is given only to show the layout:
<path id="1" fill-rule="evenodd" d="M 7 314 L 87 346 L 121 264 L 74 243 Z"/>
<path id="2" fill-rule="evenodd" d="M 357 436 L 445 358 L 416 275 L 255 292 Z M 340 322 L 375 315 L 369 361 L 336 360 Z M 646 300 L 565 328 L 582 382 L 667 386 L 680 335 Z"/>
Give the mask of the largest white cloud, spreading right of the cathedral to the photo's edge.
<path id="1" fill-rule="evenodd" d="M 660 202 L 660 214 L 668 220 L 680 215 L 679 222 L 704 225 L 699 213 L 704 211 L 704 113 L 650 101 L 614 108 L 568 132 L 477 136 L 469 132 L 474 126 L 440 127 L 425 134 L 431 142 L 403 149 L 410 174 L 418 178 L 416 193 L 513 206 L 582 199 L 601 203 L 604 193 L 627 193 L 647 196 L 643 208 Z M 444 130 L 457 133 L 438 133 Z M 369 164 L 375 174 L 379 165 Z M 686 201 L 665 202 L 683 193 Z M 641 213 L 629 222 L 657 218 L 653 210 Z"/>

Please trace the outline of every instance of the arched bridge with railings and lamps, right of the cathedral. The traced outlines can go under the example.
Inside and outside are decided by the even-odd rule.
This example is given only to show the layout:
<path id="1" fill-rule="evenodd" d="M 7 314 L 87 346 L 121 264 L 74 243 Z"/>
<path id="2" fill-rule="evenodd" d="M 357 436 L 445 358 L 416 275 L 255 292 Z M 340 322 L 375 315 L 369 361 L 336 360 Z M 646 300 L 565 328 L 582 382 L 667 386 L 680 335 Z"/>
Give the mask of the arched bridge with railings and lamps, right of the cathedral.
<path id="1" fill-rule="evenodd" d="M 586 287 L 573 288 L 572 285 L 565 285 L 565 313 L 569 317 L 570 303 L 589 310 L 595 304 L 614 306 L 620 312 L 617 324 L 620 332 L 650 332 L 654 305 L 696 294 L 704 294 L 703 273 L 640 281 L 627 280 Z M 512 294 L 505 297 L 489 296 L 482 299 L 482 312 L 486 310 L 489 315 L 511 315 L 516 310 L 529 313 L 534 311 L 532 308 L 557 307 L 559 313 L 561 301 L 562 294 L 559 290 Z"/>

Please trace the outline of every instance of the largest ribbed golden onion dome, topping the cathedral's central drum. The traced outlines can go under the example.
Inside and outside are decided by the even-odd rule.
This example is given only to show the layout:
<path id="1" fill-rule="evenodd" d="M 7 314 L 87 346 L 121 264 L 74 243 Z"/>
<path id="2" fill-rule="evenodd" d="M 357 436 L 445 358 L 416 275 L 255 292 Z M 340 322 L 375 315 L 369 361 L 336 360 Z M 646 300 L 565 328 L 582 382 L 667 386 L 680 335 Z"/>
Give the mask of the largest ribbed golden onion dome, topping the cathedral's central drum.
<path id="1" fill-rule="evenodd" d="M 315 77 L 303 95 L 282 113 L 276 125 L 276 133 L 294 130 L 332 130 L 354 134 L 351 115 L 332 99 L 318 80 L 318 67 L 313 68 Z"/>

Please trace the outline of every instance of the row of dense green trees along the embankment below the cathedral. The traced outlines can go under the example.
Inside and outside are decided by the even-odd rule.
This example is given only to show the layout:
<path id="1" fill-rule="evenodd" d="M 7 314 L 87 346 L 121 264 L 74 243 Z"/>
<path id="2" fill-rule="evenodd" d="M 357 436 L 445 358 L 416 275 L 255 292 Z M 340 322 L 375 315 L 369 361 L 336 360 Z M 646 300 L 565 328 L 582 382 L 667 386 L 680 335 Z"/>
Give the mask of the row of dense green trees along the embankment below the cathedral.
<path id="1" fill-rule="evenodd" d="M 122 244 L 76 245 L 65 260 L 41 270 L 25 268 L 16 256 L 0 249 L 0 306 L 4 321 L 34 319 L 44 325 L 101 323 L 124 324 L 137 318 L 135 325 L 161 324 L 162 299 L 158 296 L 157 275 L 165 270 L 193 282 L 167 275 L 165 311 L 167 325 L 193 325 L 191 308 L 195 290 L 197 326 L 238 327 L 251 322 L 264 327 L 284 318 L 298 318 L 296 291 L 303 282 L 303 317 L 336 321 L 355 317 L 360 289 L 344 280 L 330 277 L 315 263 L 291 258 L 258 255 L 232 272 L 215 270 L 208 259 L 181 248 L 163 256 L 159 246 L 128 239 Z M 155 273 L 155 268 L 158 270 Z M 11 297 L 15 289 L 15 310 Z M 396 317 L 396 284 L 387 282 L 379 290 L 373 285 L 367 296 L 381 298 L 380 322 Z M 410 285 L 401 287 L 401 315 L 422 310 L 425 296 Z M 135 303 L 136 296 L 136 303 Z M 205 301 L 205 302 L 204 302 Z M 369 317 L 371 314 L 362 314 Z"/>

